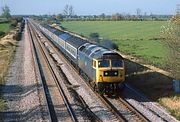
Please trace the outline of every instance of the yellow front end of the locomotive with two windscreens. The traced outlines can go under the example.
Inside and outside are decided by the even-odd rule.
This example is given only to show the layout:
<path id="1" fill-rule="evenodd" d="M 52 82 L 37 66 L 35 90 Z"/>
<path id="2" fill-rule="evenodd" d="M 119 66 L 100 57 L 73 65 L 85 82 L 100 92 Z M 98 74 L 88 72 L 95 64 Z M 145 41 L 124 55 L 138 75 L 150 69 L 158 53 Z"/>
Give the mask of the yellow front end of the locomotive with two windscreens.
<path id="1" fill-rule="evenodd" d="M 96 84 L 99 92 L 114 92 L 123 87 L 125 68 L 122 58 L 94 59 L 93 66 L 96 69 Z"/>

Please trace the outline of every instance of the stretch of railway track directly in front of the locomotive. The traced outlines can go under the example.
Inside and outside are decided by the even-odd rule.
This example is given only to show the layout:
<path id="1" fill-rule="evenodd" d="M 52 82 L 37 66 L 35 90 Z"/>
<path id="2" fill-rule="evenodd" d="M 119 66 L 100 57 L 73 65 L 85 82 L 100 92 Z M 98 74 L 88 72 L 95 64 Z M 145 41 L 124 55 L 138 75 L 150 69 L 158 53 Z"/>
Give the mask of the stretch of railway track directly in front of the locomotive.
<path id="1" fill-rule="evenodd" d="M 103 101 L 104 104 L 106 104 L 106 106 L 118 117 L 118 119 L 121 122 L 126 122 L 126 121 L 148 122 L 149 121 L 148 118 L 146 118 L 135 107 L 133 107 L 123 98 L 121 98 L 120 95 L 107 96 L 107 95 L 100 95 L 98 93 L 95 93 L 95 94 L 101 99 L 101 101 Z"/>

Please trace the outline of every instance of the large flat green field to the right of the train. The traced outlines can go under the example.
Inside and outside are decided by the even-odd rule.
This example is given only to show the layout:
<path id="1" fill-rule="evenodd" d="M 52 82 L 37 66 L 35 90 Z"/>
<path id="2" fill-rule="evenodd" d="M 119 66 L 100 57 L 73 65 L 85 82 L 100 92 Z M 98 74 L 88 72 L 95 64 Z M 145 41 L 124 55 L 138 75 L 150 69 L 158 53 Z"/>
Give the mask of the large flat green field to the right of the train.
<path id="1" fill-rule="evenodd" d="M 165 24 L 166 21 L 67 21 L 62 26 L 86 37 L 97 32 L 117 43 L 121 52 L 165 67 L 168 50 L 160 38 Z"/>

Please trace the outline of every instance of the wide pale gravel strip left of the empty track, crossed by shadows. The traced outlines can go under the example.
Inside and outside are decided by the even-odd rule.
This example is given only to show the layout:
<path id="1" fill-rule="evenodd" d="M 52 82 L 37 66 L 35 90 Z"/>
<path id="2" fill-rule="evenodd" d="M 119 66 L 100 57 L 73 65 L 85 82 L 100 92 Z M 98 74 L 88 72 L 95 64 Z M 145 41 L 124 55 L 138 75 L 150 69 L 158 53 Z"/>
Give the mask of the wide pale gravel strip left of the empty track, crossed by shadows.
<path id="1" fill-rule="evenodd" d="M 17 45 L 15 58 L 3 88 L 7 104 L 7 109 L 3 112 L 4 121 L 42 121 L 27 26 Z"/>

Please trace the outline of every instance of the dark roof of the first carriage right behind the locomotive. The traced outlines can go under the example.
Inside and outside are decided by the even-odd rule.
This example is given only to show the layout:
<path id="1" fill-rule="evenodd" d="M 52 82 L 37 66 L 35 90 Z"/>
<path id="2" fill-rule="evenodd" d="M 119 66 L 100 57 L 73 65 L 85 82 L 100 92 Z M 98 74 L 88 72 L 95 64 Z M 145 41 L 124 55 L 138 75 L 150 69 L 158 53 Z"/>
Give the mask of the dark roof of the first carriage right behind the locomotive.
<path id="1" fill-rule="evenodd" d="M 83 40 L 83 39 L 81 39 L 79 37 L 71 35 L 71 37 L 68 38 L 66 40 L 66 42 L 68 42 L 69 44 L 71 44 L 72 46 L 74 46 L 77 49 L 77 48 L 79 48 L 79 46 L 87 43 L 88 41 L 87 40 Z"/>

